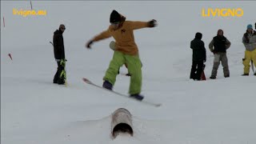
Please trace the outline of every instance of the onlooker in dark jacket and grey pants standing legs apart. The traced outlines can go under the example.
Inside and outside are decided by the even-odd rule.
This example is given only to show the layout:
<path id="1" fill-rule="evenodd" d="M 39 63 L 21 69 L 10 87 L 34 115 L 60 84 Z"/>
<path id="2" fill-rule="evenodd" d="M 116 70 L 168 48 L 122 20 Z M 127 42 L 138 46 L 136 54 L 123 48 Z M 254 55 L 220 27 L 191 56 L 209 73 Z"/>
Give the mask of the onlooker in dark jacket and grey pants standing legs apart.
<path id="1" fill-rule="evenodd" d="M 214 53 L 214 66 L 211 71 L 211 79 L 216 78 L 220 62 L 222 62 L 224 77 L 230 77 L 228 59 L 226 57 L 226 50 L 230 48 L 230 45 L 230 41 L 224 37 L 223 30 L 218 30 L 217 36 L 209 44 L 210 51 Z"/>

